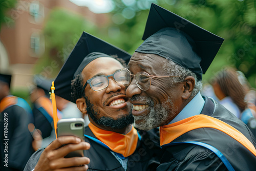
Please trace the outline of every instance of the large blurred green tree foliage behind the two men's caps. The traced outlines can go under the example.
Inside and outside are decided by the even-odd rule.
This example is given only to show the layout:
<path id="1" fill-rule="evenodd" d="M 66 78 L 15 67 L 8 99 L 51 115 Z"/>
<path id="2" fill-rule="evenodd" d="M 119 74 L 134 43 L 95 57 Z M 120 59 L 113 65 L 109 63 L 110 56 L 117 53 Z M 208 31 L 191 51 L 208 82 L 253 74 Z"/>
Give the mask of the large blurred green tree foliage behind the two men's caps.
<path id="1" fill-rule="evenodd" d="M 113 0 L 109 26 L 96 28 L 81 16 L 53 10 L 44 29 L 44 65 L 56 60 L 59 67 L 72 50 L 81 31 L 87 31 L 133 54 L 142 43 L 151 3 L 170 10 L 200 27 L 225 38 L 211 66 L 203 76 L 209 79 L 224 66 L 241 70 L 255 86 L 256 2 L 254 0 Z M 65 19 L 63 19 L 65 18 Z"/>

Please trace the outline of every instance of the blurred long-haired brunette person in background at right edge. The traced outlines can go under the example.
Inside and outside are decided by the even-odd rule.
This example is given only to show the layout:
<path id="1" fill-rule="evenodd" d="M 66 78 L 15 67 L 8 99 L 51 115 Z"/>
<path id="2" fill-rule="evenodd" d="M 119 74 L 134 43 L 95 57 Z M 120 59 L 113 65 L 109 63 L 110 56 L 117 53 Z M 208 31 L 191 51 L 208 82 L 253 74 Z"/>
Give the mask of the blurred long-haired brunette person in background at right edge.
<path id="1" fill-rule="evenodd" d="M 249 88 L 241 71 L 224 68 L 216 73 L 211 84 L 220 104 L 241 119 L 256 136 L 256 107 L 251 101 L 246 101 Z"/>

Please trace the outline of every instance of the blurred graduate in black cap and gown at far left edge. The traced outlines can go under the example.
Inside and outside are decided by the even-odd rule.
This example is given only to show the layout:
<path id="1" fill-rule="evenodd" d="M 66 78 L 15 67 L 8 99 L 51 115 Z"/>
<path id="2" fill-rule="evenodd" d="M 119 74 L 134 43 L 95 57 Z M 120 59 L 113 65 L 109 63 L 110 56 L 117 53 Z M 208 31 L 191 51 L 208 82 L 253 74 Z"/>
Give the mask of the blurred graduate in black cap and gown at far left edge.
<path id="1" fill-rule="evenodd" d="M 32 117 L 20 106 L 28 103 L 10 95 L 10 84 L 11 75 L 0 74 L 0 170 L 23 170 L 34 152 L 28 130 Z"/>

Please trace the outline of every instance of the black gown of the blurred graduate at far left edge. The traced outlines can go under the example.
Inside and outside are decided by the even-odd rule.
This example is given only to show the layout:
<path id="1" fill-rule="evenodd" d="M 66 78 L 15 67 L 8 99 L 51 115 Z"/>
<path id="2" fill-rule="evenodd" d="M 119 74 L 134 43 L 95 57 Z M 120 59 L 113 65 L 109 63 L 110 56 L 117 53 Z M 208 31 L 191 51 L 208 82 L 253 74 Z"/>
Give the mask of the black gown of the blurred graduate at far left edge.
<path id="1" fill-rule="evenodd" d="M 5 115 L 8 116 L 6 119 L 8 122 L 5 122 Z M 33 138 L 28 130 L 28 123 L 28 114 L 18 105 L 9 106 L 0 114 L 0 170 L 23 170 L 33 154 Z M 4 134 L 6 128 L 8 137 Z M 8 154 L 8 159 L 4 159 L 6 154 Z M 7 163 L 3 160 L 8 161 L 8 167 L 5 166 Z"/>

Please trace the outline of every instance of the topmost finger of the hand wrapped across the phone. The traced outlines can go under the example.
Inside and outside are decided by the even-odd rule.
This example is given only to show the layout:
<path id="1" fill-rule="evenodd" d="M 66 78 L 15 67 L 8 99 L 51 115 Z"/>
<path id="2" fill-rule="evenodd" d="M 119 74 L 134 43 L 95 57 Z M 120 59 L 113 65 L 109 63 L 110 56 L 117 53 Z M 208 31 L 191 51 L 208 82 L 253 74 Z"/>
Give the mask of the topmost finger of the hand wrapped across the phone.
<path id="1" fill-rule="evenodd" d="M 64 144 L 77 144 L 79 142 L 81 142 L 81 139 L 75 136 L 60 136 L 58 139 L 54 140 L 50 145 L 48 145 L 47 148 L 57 149 Z"/>

